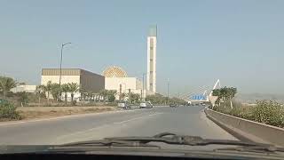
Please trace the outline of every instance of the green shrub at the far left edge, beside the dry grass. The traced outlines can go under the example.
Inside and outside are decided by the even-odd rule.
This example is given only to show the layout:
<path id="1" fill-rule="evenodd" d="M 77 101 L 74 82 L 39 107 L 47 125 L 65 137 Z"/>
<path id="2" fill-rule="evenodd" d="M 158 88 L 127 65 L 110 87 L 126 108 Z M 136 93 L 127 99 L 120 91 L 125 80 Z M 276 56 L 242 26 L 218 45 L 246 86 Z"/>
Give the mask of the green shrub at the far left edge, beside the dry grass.
<path id="1" fill-rule="evenodd" d="M 12 103 L 3 103 L 0 105 L 0 120 L 19 120 L 20 114 Z"/>

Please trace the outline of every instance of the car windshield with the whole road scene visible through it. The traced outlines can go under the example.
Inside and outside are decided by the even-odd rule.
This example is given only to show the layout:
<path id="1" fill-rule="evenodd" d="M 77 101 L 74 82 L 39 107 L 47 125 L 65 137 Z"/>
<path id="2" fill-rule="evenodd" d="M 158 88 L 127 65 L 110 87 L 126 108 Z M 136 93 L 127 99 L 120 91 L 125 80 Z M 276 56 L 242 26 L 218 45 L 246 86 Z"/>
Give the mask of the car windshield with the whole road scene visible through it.
<path id="1" fill-rule="evenodd" d="M 283 7 L 4 1 L 0 145 L 173 132 L 284 146 Z"/>

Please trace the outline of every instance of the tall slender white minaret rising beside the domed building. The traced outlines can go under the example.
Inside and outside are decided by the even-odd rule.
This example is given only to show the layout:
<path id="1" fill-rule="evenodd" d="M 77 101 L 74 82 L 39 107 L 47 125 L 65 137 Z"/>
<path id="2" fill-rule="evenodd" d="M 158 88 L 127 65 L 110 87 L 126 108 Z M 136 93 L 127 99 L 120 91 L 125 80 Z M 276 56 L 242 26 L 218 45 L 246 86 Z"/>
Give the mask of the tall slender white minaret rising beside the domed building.
<path id="1" fill-rule="evenodd" d="M 147 91 L 156 92 L 157 26 L 150 27 L 147 36 Z"/>

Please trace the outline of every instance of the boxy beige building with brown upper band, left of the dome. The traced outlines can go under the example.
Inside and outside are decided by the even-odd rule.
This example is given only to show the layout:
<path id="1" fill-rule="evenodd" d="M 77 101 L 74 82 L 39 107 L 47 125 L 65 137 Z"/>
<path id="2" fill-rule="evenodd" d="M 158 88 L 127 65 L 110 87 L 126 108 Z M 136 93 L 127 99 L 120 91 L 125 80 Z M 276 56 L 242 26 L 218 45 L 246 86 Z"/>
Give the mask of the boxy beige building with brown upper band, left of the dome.
<path id="1" fill-rule="evenodd" d="M 59 84 L 59 68 L 43 68 L 41 84 Z M 80 68 L 62 68 L 61 84 L 76 83 L 85 92 L 99 92 L 105 89 L 105 77 Z M 69 97 L 69 96 L 68 96 Z M 80 97 L 80 93 L 75 94 L 75 98 Z"/>

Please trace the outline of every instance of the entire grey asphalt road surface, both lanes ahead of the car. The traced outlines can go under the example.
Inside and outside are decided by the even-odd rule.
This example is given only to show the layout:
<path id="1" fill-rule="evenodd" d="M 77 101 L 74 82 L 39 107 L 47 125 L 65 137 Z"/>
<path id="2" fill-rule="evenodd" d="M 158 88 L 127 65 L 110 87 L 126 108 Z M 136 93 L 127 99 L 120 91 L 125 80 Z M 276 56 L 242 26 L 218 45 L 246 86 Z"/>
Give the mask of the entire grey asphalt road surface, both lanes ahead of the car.
<path id="1" fill-rule="evenodd" d="M 0 144 L 62 144 L 159 132 L 234 140 L 205 116 L 203 107 L 156 107 L 0 124 Z"/>

